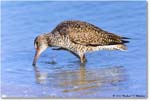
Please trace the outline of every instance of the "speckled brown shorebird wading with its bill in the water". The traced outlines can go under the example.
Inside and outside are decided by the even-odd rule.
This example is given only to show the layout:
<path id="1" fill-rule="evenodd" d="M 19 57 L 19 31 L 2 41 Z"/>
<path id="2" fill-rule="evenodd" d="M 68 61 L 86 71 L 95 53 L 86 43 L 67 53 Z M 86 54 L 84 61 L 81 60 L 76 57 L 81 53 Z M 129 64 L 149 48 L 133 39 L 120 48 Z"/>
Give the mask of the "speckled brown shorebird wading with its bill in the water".
<path id="1" fill-rule="evenodd" d="M 127 50 L 127 37 L 115 35 L 84 21 L 63 21 L 51 32 L 37 36 L 34 40 L 36 49 L 33 65 L 40 54 L 48 47 L 54 50 L 67 50 L 86 62 L 85 53 L 99 50 Z M 56 48 L 57 47 L 57 48 Z"/>

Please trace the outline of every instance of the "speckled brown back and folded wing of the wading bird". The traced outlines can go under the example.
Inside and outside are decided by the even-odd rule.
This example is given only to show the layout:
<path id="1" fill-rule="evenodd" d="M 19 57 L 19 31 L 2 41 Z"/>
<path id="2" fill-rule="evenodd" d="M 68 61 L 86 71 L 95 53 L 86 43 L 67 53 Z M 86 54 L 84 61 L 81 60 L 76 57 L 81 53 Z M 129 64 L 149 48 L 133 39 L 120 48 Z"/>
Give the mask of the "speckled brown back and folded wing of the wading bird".
<path id="1" fill-rule="evenodd" d="M 105 46 L 124 44 L 124 37 L 109 33 L 101 28 L 83 21 L 64 21 L 51 32 L 69 36 L 69 40 L 84 46 Z"/>

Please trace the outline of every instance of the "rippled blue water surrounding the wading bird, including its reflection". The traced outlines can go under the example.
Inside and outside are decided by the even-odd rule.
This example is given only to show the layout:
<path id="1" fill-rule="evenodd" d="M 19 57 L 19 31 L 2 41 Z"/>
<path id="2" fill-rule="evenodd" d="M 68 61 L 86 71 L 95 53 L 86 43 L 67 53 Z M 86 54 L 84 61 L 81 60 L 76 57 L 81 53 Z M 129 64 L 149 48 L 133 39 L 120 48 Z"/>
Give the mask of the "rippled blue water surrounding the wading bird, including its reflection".
<path id="1" fill-rule="evenodd" d="M 64 20 L 129 37 L 128 51 L 88 53 L 83 66 L 69 52 L 49 48 L 33 67 L 34 38 Z M 2 2 L 2 97 L 146 97 L 146 23 L 146 2 Z"/>

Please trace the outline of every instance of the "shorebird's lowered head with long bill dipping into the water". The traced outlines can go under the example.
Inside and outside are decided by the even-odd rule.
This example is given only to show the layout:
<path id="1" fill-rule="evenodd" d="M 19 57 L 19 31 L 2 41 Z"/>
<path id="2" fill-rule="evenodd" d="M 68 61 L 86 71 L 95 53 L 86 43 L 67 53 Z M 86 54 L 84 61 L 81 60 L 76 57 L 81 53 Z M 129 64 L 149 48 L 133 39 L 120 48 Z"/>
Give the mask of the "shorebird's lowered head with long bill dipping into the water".
<path id="1" fill-rule="evenodd" d="M 36 61 L 38 60 L 40 54 L 48 48 L 48 40 L 47 37 L 43 35 L 39 35 L 34 40 L 34 47 L 36 49 L 36 53 L 33 60 L 33 65 L 36 64 Z"/>

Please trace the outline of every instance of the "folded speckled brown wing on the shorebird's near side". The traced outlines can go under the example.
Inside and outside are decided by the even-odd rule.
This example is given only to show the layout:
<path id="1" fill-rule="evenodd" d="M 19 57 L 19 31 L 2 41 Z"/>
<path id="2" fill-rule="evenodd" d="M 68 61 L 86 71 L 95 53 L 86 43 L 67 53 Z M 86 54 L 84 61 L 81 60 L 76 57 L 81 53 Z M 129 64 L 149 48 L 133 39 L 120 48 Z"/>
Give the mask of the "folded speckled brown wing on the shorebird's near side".
<path id="1" fill-rule="evenodd" d="M 69 39 L 85 46 L 103 46 L 122 44 L 120 36 L 103 31 L 91 24 L 77 24 L 70 28 Z"/>

